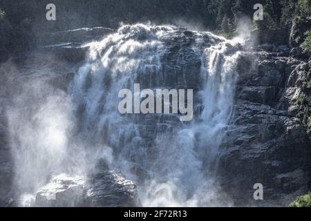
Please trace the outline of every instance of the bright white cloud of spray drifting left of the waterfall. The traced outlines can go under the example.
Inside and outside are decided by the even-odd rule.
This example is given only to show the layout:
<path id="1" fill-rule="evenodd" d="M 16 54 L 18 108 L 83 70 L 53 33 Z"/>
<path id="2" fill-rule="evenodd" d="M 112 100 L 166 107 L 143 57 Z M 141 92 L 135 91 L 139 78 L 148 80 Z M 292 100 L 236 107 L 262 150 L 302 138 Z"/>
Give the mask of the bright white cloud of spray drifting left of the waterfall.
<path id="1" fill-rule="evenodd" d="M 8 108 L 15 188 L 17 193 L 23 193 L 22 206 L 30 205 L 33 194 L 46 184 L 48 177 L 66 166 L 71 106 L 66 93 L 33 80 L 25 81 Z"/>

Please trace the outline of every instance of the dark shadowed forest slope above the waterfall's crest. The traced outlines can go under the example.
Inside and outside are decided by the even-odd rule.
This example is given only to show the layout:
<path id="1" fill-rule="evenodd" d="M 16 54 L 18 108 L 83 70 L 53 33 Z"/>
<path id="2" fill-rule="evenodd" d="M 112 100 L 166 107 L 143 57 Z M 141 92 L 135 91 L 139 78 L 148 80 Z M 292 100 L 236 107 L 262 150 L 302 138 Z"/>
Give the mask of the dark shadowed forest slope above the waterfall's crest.
<path id="1" fill-rule="evenodd" d="M 1 0 L 0 21 L 5 21 L 7 32 L 7 40 L 1 39 L 1 44 L 19 51 L 32 48 L 34 36 L 45 32 L 92 26 L 117 28 L 120 22 L 144 21 L 176 25 L 186 21 L 231 38 L 238 18 L 252 18 L 256 3 L 264 6 L 264 20 L 256 21 L 255 28 L 289 27 L 296 15 L 310 15 L 311 11 L 310 0 L 54 0 L 57 21 L 49 22 L 45 19 L 47 3 L 50 1 Z M 306 40 L 304 48 L 310 38 Z"/>

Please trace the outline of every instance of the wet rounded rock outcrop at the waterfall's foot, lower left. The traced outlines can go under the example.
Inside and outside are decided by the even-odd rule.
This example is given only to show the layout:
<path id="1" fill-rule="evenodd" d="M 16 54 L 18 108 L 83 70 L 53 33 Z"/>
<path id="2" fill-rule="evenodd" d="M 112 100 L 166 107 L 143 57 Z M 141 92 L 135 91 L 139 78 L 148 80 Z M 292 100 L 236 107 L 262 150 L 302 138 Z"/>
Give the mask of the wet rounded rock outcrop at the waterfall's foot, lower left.
<path id="1" fill-rule="evenodd" d="M 37 192 L 34 206 L 136 206 L 136 189 L 119 171 L 84 177 L 60 174 Z"/>

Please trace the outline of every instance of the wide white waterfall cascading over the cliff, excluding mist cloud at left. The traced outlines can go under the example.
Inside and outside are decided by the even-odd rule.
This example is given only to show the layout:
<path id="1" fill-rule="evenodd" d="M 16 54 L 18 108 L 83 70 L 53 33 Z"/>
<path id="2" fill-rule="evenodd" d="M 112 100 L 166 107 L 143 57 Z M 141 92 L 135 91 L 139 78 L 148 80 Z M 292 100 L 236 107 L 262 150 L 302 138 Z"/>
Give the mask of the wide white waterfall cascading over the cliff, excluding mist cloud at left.
<path id="1" fill-rule="evenodd" d="M 238 50 L 210 33 L 144 25 L 123 26 L 89 46 L 69 90 L 86 143 L 111 147 L 110 166 L 135 180 L 143 206 L 230 204 L 220 199 L 213 171 L 233 107 Z M 120 115 L 118 91 L 135 83 L 193 86 L 201 111 L 189 124 L 174 115 Z"/>

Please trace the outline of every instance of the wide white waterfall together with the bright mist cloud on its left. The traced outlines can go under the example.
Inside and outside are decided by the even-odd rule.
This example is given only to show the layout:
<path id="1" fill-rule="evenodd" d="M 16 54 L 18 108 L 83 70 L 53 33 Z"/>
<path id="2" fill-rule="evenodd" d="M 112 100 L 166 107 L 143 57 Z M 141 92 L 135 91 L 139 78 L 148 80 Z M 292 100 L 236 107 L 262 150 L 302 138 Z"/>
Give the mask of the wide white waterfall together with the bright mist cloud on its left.
<path id="1" fill-rule="evenodd" d="M 45 96 L 22 125 L 20 113 L 12 111 L 16 184 L 28 186 L 21 192 L 34 193 L 50 173 L 67 171 L 64 166 L 74 149 L 81 152 L 74 156 L 79 162 L 77 171 L 88 171 L 103 158 L 135 182 L 142 206 L 230 206 L 215 171 L 233 108 L 239 52 L 233 41 L 208 32 L 191 32 L 194 41 L 189 46 L 183 42 L 187 35 L 169 26 L 122 26 L 102 41 L 88 44 L 88 59 L 77 71 L 68 95 L 47 92 L 52 97 Z M 176 44 L 179 49 L 174 49 Z M 183 76 L 175 81 L 164 69 L 185 66 L 183 58 L 189 55 L 182 53 L 183 47 L 201 64 L 193 70 L 198 73 L 177 71 Z M 174 54 L 175 50 L 179 51 Z M 175 64 L 164 59 L 169 56 L 177 57 Z M 133 90 L 133 84 L 140 83 L 153 90 L 187 89 L 191 78 L 201 84 L 194 99 L 195 109 L 201 107 L 201 111 L 190 123 L 183 124 L 174 115 L 120 115 L 117 111 L 122 88 Z M 23 105 L 22 98 L 17 105 Z M 74 134 L 73 117 L 77 119 Z"/>

